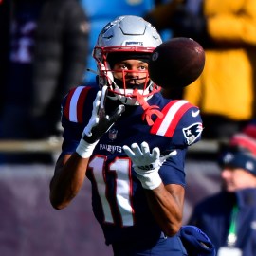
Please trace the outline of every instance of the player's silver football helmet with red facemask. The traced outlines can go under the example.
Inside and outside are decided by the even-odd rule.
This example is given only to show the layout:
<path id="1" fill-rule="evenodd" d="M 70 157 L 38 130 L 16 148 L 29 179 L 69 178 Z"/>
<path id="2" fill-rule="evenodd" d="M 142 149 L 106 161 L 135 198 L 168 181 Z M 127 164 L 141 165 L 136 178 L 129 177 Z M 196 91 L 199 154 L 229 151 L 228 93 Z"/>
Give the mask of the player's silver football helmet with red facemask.
<path id="1" fill-rule="evenodd" d="M 155 47 L 161 43 L 161 37 L 155 27 L 138 16 L 119 16 L 101 30 L 93 50 L 93 57 L 98 66 L 100 87 L 108 85 L 109 98 L 128 105 L 139 104 L 134 89 L 127 88 L 127 84 L 125 84 L 124 77 L 129 72 L 128 70 L 122 71 L 123 81 L 121 85 L 120 82 L 115 81 L 114 70 L 111 70 L 109 63 L 111 53 L 116 55 L 118 53 L 120 56 L 127 53 L 131 53 L 133 56 L 146 54 L 150 56 Z M 149 79 L 148 71 L 138 72 L 145 73 L 146 82 L 144 82 L 144 86 L 139 86 L 137 91 L 147 101 L 160 88 Z M 142 87 L 143 89 L 141 89 Z"/>

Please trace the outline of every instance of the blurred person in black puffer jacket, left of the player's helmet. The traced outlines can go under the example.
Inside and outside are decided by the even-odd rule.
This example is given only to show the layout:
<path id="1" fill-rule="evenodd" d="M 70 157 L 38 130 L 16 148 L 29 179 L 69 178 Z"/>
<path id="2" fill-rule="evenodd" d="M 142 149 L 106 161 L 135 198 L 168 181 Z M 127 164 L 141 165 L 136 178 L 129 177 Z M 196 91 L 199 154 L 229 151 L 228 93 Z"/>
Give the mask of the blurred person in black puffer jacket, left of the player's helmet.
<path id="1" fill-rule="evenodd" d="M 38 137 L 58 133 L 64 95 L 83 80 L 88 38 L 88 18 L 77 0 L 46 0 L 36 33 L 31 106 Z"/>

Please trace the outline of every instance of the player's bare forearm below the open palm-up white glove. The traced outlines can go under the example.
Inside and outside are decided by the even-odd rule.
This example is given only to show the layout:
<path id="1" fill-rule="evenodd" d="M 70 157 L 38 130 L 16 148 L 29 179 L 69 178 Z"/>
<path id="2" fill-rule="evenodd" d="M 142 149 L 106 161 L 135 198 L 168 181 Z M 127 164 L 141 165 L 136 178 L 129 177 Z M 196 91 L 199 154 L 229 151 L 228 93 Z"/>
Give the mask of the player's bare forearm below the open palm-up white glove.
<path id="1" fill-rule="evenodd" d="M 179 185 L 169 185 L 167 191 L 161 183 L 155 190 L 145 192 L 156 222 L 167 236 L 174 236 L 182 225 L 184 189 Z"/>

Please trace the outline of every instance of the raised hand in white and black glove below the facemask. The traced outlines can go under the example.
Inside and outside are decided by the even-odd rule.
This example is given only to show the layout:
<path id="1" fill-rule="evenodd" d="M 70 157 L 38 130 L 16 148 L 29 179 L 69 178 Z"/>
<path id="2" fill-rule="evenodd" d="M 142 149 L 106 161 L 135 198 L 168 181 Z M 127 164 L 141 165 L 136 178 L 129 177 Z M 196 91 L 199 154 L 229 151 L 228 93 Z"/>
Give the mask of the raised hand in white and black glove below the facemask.
<path id="1" fill-rule="evenodd" d="M 93 102 L 92 116 L 88 124 L 82 132 L 82 139 L 76 152 L 87 158 L 97 145 L 99 139 L 110 129 L 117 119 L 124 112 L 124 105 L 119 105 L 111 116 L 106 115 L 104 104 L 106 101 L 107 86 L 103 86 L 102 90 L 96 95 Z"/>

